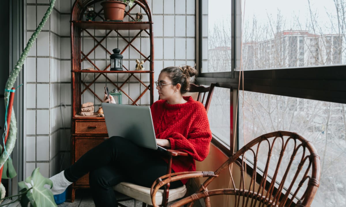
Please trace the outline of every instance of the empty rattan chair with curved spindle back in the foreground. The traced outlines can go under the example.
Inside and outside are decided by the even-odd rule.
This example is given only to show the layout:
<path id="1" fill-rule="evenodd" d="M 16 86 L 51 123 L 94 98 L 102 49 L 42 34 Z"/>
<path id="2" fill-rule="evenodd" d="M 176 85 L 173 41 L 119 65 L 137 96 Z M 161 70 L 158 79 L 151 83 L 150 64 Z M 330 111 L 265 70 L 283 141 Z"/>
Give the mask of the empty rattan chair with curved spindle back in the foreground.
<path id="1" fill-rule="evenodd" d="M 228 188 L 208 189 L 221 171 L 230 169 Z M 239 173 L 235 170 L 239 169 Z M 271 132 L 250 141 L 216 171 L 179 172 L 158 178 L 153 184 L 152 203 L 157 189 L 166 183 L 208 177 L 191 196 L 171 207 L 191 207 L 203 198 L 210 207 L 210 196 L 230 195 L 222 206 L 306 206 L 309 207 L 319 187 L 320 162 L 311 142 L 289 131 Z M 220 197 L 218 197 L 220 199 Z M 155 205 L 157 206 L 157 205 Z"/>

